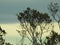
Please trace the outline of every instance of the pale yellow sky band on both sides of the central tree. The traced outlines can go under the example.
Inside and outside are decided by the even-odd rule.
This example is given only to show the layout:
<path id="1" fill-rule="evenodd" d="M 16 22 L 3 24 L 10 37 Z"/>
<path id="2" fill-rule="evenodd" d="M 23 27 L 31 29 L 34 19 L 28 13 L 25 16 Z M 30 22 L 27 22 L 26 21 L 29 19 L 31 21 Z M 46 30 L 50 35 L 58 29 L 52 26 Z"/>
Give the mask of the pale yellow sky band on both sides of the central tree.
<path id="1" fill-rule="evenodd" d="M 17 29 L 20 30 L 19 23 L 0 24 L 2 29 L 6 30 L 8 36 L 19 36 Z M 60 33 L 57 23 L 54 23 L 54 30 Z"/>

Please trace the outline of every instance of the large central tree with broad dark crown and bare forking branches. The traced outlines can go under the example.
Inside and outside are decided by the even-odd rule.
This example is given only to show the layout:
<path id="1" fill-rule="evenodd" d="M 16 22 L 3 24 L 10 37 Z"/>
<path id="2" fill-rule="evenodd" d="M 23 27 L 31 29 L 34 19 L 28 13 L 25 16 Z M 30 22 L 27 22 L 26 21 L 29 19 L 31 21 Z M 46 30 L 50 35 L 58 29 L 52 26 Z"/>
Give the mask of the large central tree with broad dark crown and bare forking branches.
<path id="1" fill-rule="evenodd" d="M 22 37 L 27 37 L 32 45 L 43 45 L 42 44 L 42 35 L 45 32 L 48 32 L 46 26 L 50 24 L 51 19 L 47 13 L 40 13 L 35 9 L 30 9 L 29 7 L 23 12 L 17 14 L 18 20 L 22 27 L 23 33 L 17 30 Z M 39 31 L 36 29 L 39 26 Z M 45 31 L 46 30 L 46 31 Z M 29 36 L 28 36 L 29 35 Z"/>

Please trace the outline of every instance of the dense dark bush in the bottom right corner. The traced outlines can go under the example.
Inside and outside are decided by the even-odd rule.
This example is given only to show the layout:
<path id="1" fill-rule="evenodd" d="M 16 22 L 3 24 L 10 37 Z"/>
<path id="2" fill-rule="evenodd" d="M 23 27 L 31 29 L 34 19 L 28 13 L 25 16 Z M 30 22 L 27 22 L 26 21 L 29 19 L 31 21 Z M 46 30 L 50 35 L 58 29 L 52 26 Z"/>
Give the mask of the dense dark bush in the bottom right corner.
<path id="1" fill-rule="evenodd" d="M 60 44 L 60 35 L 54 31 L 51 31 L 50 36 L 46 37 L 47 42 L 45 45 L 59 45 Z"/>

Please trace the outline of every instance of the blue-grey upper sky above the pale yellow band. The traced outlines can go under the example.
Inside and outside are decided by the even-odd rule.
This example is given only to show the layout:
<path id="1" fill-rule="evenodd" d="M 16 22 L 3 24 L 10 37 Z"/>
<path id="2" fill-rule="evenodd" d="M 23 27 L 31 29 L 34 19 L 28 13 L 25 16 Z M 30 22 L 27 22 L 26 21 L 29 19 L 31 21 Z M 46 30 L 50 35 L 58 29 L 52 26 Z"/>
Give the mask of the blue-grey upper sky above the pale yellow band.
<path id="1" fill-rule="evenodd" d="M 16 14 L 27 7 L 48 12 L 47 6 L 51 1 L 53 0 L 0 0 L 0 23 L 18 22 Z"/>

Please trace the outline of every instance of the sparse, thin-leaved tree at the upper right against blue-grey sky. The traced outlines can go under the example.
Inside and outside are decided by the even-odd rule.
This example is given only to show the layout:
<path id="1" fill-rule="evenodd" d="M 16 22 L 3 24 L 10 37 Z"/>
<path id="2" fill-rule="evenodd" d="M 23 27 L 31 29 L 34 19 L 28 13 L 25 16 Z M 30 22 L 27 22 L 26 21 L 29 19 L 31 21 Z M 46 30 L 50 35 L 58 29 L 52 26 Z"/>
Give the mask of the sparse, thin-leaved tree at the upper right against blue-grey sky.
<path id="1" fill-rule="evenodd" d="M 50 15 L 53 17 L 53 19 L 55 20 L 55 22 L 58 23 L 59 28 L 60 28 L 60 16 L 57 15 L 57 13 L 60 11 L 60 6 L 58 3 L 53 3 L 51 2 L 48 5 L 48 10 L 50 11 Z M 56 19 L 56 16 L 59 18 L 59 20 Z"/>

